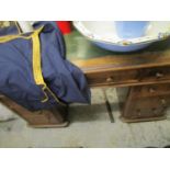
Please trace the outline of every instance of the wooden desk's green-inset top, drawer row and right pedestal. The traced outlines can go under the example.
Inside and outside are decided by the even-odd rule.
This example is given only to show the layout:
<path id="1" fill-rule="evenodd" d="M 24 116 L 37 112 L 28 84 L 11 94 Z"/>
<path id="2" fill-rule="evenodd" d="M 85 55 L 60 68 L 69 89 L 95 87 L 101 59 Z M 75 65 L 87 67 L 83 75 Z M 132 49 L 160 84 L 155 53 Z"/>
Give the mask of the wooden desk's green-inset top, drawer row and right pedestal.
<path id="1" fill-rule="evenodd" d="M 116 87 L 124 122 L 166 118 L 170 104 L 170 39 L 136 53 L 103 50 L 78 32 L 65 36 L 68 59 L 89 86 Z"/>

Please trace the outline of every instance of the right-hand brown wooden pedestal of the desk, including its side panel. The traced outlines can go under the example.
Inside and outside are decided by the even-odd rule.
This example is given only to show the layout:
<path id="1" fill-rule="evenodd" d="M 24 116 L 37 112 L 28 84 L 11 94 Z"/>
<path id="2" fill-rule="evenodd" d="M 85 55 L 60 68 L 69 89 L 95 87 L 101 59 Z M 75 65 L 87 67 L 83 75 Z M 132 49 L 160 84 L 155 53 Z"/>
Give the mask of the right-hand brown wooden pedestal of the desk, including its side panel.
<path id="1" fill-rule="evenodd" d="M 170 95 L 166 93 L 146 93 L 148 86 L 118 88 L 117 95 L 123 122 L 158 121 L 166 118 L 166 109 Z"/>

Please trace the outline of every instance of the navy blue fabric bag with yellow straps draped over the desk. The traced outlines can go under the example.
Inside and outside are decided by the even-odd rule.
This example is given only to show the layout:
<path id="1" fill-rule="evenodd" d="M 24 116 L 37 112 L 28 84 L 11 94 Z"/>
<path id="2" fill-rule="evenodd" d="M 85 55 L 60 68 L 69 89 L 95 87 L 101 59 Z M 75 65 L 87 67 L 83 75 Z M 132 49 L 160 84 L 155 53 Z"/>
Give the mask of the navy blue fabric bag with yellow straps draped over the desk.
<path id="1" fill-rule="evenodd" d="M 34 32 L 0 31 L 0 93 L 36 111 L 55 104 L 90 103 L 82 71 L 66 59 L 65 43 L 53 22 L 37 22 Z"/>

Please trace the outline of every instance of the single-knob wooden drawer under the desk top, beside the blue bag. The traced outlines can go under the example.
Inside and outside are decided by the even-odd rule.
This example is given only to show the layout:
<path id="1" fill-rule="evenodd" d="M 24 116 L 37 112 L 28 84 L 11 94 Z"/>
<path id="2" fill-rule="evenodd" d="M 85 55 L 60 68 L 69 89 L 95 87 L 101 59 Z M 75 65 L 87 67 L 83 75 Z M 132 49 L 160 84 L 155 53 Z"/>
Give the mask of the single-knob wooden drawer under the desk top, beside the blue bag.
<path id="1" fill-rule="evenodd" d="M 87 76 L 89 86 L 110 86 L 137 82 L 137 70 L 92 72 Z"/>

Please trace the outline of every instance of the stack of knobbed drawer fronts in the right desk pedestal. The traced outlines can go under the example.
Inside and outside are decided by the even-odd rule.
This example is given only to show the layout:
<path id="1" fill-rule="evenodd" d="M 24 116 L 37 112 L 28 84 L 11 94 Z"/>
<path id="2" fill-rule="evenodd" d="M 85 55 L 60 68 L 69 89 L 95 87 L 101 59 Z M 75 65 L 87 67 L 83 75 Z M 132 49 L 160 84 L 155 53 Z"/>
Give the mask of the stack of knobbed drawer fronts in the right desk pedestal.
<path id="1" fill-rule="evenodd" d="M 155 91 L 148 92 L 150 88 L 155 88 Z M 168 84 L 132 87 L 124 100 L 122 116 L 128 120 L 163 116 L 170 105 L 170 92 L 167 90 Z"/>

